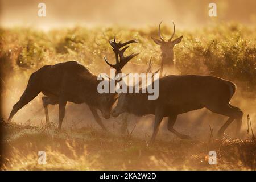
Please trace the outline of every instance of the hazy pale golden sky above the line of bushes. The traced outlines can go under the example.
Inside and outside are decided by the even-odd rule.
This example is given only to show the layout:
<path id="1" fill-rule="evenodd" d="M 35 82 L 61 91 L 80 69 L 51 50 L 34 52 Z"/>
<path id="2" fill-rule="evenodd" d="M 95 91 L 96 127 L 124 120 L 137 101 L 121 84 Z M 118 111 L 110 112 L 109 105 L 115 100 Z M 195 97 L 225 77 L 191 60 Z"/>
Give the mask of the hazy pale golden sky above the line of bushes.
<path id="1" fill-rule="evenodd" d="M 46 17 L 38 4 L 46 4 Z M 217 17 L 208 14 L 217 5 Z M 205 26 L 212 21 L 256 23 L 255 0 L 0 0 L 0 26 L 49 30 L 72 26 L 142 27 L 175 21 L 180 28 Z"/>

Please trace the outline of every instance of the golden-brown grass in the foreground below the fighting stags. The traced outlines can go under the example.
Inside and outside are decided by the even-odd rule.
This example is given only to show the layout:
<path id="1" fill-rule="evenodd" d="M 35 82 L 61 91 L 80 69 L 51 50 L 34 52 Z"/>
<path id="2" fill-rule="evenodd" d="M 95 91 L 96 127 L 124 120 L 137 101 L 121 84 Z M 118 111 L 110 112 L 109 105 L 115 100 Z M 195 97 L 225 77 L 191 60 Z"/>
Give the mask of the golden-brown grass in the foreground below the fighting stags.
<path id="1" fill-rule="evenodd" d="M 43 130 L 35 126 L 1 123 L 5 151 L 3 170 L 255 170 L 256 145 L 250 139 L 146 140 L 133 135 L 102 133 L 92 127 Z M 209 165 L 208 152 L 217 152 Z M 45 151 L 47 164 L 38 164 Z"/>

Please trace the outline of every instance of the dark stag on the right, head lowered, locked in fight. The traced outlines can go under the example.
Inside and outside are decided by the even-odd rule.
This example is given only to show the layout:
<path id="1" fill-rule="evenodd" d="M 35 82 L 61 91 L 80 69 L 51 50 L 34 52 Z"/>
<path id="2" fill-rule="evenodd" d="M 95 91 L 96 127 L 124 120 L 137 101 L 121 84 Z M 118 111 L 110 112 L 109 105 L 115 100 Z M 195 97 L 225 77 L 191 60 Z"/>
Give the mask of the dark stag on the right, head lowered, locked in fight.
<path id="1" fill-rule="evenodd" d="M 122 57 L 122 52 L 113 46 L 115 55 Z M 127 63 L 118 60 L 115 65 L 106 63 L 121 73 L 121 68 Z M 152 82 L 154 84 L 154 82 Z M 134 89 L 134 88 L 133 88 Z M 225 115 L 229 119 L 218 131 L 221 138 L 225 129 L 236 119 L 239 135 L 242 125 L 242 111 L 238 107 L 232 106 L 229 102 L 236 91 L 236 85 L 228 80 L 214 76 L 199 75 L 172 75 L 159 78 L 159 97 L 156 100 L 148 100 L 148 94 L 120 93 L 117 106 L 112 111 L 113 117 L 118 117 L 121 113 L 131 113 L 138 116 L 155 115 L 154 132 L 151 143 L 154 142 L 158 133 L 160 122 L 164 117 L 168 117 L 168 130 L 176 134 L 181 139 L 191 139 L 188 135 L 179 133 L 174 129 L 177 115 L 188 111 L 207 108 L 213 113 Z"/>

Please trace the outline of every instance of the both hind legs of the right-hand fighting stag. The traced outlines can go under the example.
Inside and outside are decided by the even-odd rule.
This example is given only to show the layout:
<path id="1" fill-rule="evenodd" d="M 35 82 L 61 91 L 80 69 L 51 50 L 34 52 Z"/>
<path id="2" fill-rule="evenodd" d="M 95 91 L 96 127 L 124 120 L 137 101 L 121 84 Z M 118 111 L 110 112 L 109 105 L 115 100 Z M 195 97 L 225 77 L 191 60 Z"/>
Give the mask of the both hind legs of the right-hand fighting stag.
<path id="1" fill-rule="evenodd" d="M 234 119 L 236 119 L 237 121 L 236 135 L 237 137 L 240 135 L 243 112 L 238 107 L 234 107 L 228 104 L 228 105 L 216 106 L 214 108 L 208 108 L 208 109 L 211 110 L 213 113 L 218 113 L 218 114 L 226 115 L 229 117 L 229 119 L 224 123 L 224 125 L 218 131 L 218 138 L 222 137 L 222 135 L 224 134 L 224 131 L 230 125 L 230 123 L 232 123 Z"/>

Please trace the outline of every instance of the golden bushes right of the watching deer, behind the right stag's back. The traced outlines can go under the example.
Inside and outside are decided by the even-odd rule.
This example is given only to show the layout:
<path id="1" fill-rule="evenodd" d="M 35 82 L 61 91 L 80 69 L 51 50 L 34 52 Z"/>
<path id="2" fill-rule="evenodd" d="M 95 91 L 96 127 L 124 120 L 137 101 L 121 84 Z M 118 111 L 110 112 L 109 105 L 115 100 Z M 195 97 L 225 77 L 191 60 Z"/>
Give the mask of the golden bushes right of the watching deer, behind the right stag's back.
<path id="1" fill-rule="evenodd" d="M 189 35 L 189 32 L 188 32 Z M 213 75 L 235 81 L 243 90 L 256 86 L 255 27 L 220 24 L 184 36 L 176 47 L 181 74 Z"/>

